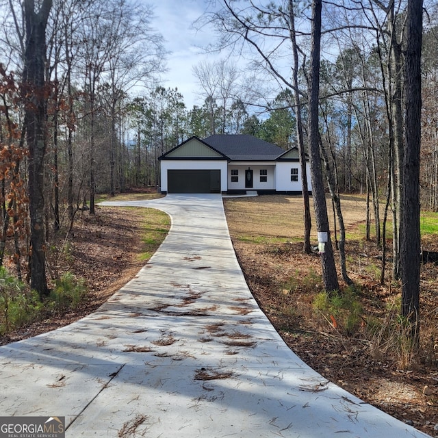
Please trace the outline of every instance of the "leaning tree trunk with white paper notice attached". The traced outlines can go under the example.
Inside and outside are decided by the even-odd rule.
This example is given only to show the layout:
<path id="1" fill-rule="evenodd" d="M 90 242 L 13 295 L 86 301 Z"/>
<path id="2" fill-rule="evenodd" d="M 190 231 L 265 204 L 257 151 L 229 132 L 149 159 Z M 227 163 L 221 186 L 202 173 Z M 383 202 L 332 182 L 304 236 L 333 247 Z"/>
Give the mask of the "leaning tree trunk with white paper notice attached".
<path id="1" fill-rule="evenodd" d="M 312 177 L 313 205 L 316 226 L 320 233 L 320 256 L 322 280 L 328 292 L 339 289 L 335 258 L 331 244 L 329 216 L 327 215 L 324 181 L 320 157 L 320 134 L 318 123 L 320 91 L 320 42 L 321 42 L 322 0 L 313 0 L 311 29 L 311 62 L 309 74 L 309 153 Z M 322 242 L 326 240 L 326 242 Z"/>

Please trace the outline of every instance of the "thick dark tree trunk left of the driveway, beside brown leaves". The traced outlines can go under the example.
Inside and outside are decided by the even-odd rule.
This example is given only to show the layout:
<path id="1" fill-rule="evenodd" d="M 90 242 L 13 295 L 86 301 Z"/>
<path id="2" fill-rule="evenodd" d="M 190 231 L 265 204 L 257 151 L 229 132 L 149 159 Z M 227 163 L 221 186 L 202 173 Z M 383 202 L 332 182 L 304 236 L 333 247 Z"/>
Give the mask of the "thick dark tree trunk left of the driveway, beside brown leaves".
<path id="1" fill-rule="evenodd" d="M 52 0 L 43 0 L 39 12 L 33 0 L 24 0 L 26 49 L 23 69 L 26 139 L 29 147 L 29 261 L 31 287 L 48 294 L 44 253 L 44 154 L 46 152 L 46 26 Z"/>

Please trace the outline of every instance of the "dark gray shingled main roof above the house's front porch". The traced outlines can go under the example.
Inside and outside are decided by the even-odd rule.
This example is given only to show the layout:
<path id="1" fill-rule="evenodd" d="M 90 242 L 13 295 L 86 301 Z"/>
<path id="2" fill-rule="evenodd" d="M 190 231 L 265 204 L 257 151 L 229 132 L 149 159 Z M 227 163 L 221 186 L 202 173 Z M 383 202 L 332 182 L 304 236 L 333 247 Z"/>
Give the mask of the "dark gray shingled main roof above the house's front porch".
<path id="1" fill-rule="evenodd" d="M 248 135 L 216 135 L 203 140 L 232 161 L 270 161 L 285 152 L 275 144 Z"/>

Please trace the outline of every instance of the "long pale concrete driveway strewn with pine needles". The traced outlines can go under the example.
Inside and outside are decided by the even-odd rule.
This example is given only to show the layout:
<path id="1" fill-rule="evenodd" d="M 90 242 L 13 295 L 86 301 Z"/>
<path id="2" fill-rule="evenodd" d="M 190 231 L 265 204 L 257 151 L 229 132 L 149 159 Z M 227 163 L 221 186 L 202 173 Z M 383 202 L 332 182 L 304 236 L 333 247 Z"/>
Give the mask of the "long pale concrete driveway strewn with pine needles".
<path id="1" fill-rule="evenodd" d="M 0 348 L 0 415 L 65 416 L 72 438 L 428 436 L 287 348 L 248 290 L 220 195 L 103 205 L 162 209 L 170 233 L 98 311 Z"/>

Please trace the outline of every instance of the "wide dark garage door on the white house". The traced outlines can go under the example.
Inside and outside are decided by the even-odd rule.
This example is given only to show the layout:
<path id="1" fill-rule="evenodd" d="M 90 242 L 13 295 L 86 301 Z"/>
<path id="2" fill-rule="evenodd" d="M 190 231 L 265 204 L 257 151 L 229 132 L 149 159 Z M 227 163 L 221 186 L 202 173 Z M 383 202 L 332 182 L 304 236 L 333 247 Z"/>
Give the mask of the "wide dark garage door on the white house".
<path id="1" fill-rule="evenodd" d="M 220 170 L 168 170 L 168 193 L 220 193 Z"/>

